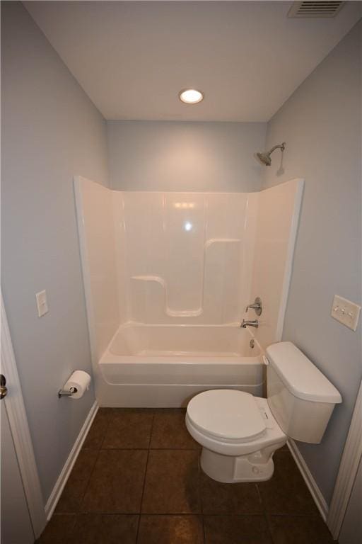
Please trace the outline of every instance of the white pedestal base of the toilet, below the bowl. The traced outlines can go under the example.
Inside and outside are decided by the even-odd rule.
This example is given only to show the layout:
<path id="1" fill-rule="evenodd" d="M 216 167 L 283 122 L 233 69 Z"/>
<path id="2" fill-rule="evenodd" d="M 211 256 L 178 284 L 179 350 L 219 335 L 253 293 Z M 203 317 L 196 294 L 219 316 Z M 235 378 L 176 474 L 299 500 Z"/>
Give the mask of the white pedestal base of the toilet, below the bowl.
<path id="1" fill-rule="evenodd" d="M 280 446 L 279 446 L 280 447 Z M 269 449 L 269 448 L 266 448 Z M 274 462 L 271 451 L 257 451 L 250 455 L 221 455 L 202 448 L 201 467 L 206 475 L 216 482 L 232 484 L 235 482 L 263 482 L 270 480 L 274 472 Z"/>

